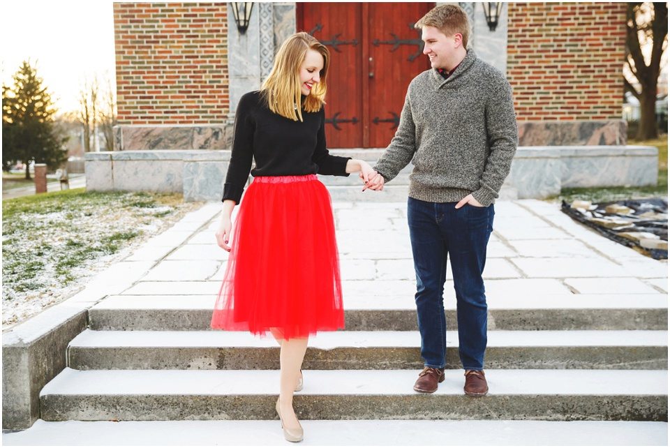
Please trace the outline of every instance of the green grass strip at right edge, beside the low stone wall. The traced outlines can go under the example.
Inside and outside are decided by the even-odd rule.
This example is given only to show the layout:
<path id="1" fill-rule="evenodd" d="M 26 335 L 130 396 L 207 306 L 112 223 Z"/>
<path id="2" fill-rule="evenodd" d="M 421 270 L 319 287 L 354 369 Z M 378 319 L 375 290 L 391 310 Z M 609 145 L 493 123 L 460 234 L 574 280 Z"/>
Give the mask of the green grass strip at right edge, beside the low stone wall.
<path id="1" fill-rule="evenodd" d="M 576 199 L 591 202 L 611 202 L 643 197 L 667 197 L 668 195 L 668 135 L 656 140 L 629 140 L 628 144 L 652 146 L 658 148 L 658 184 L 645 187 L 599 187 L 599 188 L 563 188 L 559 199 L 572 202 Z"/>

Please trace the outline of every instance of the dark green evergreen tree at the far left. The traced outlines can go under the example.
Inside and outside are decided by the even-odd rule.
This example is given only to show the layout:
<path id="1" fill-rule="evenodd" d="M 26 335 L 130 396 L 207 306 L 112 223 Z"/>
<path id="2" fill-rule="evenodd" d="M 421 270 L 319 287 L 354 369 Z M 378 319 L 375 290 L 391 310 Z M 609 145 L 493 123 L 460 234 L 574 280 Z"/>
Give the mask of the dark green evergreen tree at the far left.
<path id="1" fill-rule="evenodd" d="M 2 165 L 7 170 L 21 160 L 30 179 L 31 162 L 54 169 L 68 158 L 64 148 L 68 137 L 54 127 L 57 110 L 36 68 L 23 61 L 13 82 L 2 88 Z"/>

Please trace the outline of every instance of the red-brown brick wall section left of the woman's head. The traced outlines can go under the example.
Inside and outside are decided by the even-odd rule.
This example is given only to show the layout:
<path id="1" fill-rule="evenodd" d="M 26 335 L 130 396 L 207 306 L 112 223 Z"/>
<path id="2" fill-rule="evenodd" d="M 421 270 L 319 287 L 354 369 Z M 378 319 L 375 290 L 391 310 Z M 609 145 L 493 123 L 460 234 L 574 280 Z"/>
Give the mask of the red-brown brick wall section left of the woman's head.
<path id="1" fill-rule="evenodd" d="M 114 3 L 119 124 L 228 117 L 227 3 Z"/>

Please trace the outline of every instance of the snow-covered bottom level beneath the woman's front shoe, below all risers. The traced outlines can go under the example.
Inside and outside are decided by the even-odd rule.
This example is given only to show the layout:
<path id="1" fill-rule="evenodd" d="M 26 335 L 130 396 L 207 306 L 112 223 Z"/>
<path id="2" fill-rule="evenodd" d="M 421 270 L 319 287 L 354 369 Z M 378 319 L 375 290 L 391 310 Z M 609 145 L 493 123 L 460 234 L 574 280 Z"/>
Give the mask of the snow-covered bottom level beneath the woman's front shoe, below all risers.
<path id="1" fill-rule="evenodd" d="M 308 445 L 667 445 L 660 421 L 308 420 Z M 222 435 L 225 435 L 222 437 Z M 3 445 L 290 445 L 276 420 L 44 421 L 3 433 Z"/>

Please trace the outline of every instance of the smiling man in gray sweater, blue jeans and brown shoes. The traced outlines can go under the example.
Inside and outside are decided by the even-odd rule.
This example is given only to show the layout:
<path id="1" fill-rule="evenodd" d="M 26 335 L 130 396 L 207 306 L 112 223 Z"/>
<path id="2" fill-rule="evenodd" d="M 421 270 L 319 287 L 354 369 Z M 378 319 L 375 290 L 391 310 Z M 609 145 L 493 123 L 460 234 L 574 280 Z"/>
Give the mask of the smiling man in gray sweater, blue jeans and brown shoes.
<path id="1" fill-rule="evenodd" d="M 442 293 L 451 260 L 463 388 L 489 390 L 484 376 L 486 296 L 482 272 L 493 231 L 493 202 L 519 143 L 512 88 L 468 45 L 469 24 L 459 6 L 433 8 L 422 30 L 431 69 L 410 82 L 399 128 L 374 169 L 368 188 L 380 190 L 410 160 L 408 224 L 417 276 L 417 320 L 424 370 L 414 389 L 431 393 L 445 379 L 447 349 Z"/>

